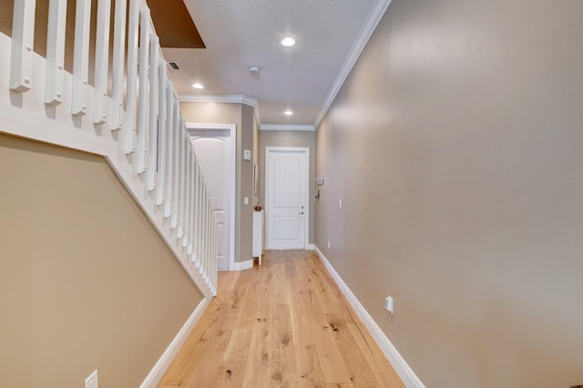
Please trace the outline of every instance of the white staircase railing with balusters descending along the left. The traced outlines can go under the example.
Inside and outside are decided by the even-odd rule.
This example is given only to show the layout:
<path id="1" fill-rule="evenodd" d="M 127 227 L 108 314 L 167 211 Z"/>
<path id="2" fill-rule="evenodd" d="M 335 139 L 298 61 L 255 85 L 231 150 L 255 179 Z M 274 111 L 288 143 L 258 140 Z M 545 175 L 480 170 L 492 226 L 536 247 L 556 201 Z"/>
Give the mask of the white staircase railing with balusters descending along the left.
<path id="1" fill-rule="evenodd" d="M 91 0 L 77 0 L 69 74 L 66 0 L 50 0 L 46 58 L 33 51 L 36 0 L 15 0 L 12 36 L 0 33 L 0 131 L 105 156 L 199 289 L 215 295 L 217 220 L 148 6 L 94 1 L 90 42 Z"/>

